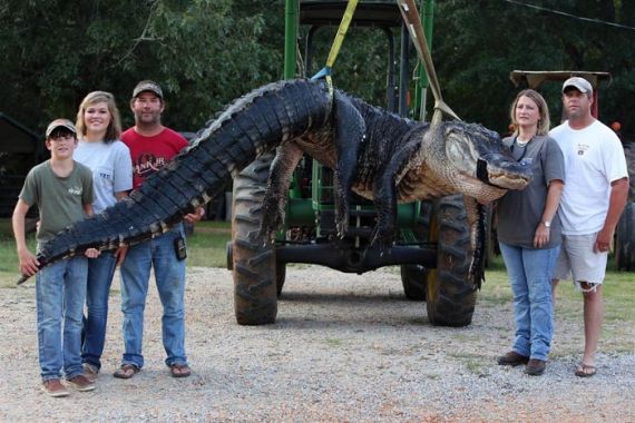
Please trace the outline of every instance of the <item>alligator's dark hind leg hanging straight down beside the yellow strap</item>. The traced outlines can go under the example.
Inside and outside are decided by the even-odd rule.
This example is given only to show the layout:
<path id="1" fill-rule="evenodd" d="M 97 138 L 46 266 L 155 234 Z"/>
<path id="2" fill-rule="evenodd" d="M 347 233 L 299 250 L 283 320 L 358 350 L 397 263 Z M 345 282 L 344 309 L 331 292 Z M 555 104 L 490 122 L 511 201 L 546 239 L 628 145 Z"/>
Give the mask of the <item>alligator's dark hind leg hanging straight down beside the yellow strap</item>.
<path id="1" fill-rule="evenodd" d="M 349 228 L 351 187 L 358 169 L 358 155 L 364 139 L 365 124 L 351 101 L 335 92 L 334 142 L 338 151 L 335 165 L 335 224 L 338 235 L 344 237 Z"/>

